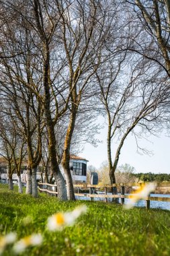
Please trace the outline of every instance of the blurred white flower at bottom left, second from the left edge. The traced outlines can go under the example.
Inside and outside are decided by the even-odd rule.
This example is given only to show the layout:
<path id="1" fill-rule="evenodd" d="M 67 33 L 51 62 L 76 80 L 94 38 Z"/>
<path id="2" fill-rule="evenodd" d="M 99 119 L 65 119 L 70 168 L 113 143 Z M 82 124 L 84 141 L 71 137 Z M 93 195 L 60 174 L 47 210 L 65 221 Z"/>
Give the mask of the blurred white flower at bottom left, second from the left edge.
<path id="1" fill-rule="evenodd" d="M 26 236 L 19 240 L 13 246 L 13 251 L 15 253 L 22 253 L 27 247 L 40 245 L 42 243 L 42 235 L 41 234 L 32 234 L 30 236 Z"/>

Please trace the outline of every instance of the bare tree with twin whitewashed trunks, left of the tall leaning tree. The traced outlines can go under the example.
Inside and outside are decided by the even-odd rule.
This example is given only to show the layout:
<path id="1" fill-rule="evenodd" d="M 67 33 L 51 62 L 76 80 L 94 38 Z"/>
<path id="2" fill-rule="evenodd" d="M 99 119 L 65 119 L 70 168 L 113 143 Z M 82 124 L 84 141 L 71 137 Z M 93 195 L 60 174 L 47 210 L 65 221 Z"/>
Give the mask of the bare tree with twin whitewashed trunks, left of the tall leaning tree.
<path id="1" fill-rule="evenodd" d="M 42 114 L 43 110 L 40 107 L 40 100 L 24 87 L 26 82 L 24 70 L 21 68 L 21 63 L 24 60 L 16 57 L 13 61 L 3 60 L 1 66 L 1 100 L 5 106 L 3 113 L 13 116 L 15 123 L 18 123 L 18 129 L 23 134 L 28 147 L 28 171 L 27 171 L 27 188 L 26 193 L 33 193 L 37 197 L 38 191 L 36 186 L 36 168 L 41 159 L 41 133 L 43 129 Z M 26 62 L 28 60 L 26 59 Z M 28 65 L 28 63 L 27 63 Z M 28 69 L 26 71 L 29 72 Z M 20 73 L 20 75 L 19 75 Z M 27 76 L 27 82 L 30 82 L 30 77 Z"/>

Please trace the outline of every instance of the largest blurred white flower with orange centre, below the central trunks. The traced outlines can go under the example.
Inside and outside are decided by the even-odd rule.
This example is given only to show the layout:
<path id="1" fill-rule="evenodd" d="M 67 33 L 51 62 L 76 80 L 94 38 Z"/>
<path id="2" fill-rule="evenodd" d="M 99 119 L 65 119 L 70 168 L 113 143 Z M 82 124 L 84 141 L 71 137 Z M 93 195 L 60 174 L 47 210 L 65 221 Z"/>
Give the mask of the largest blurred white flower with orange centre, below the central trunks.
<path id="1" fill-rule="evenodd" d="M 73 212 L 58 212 L 48 218 L 47 221 L 47 228 L 48 230 L 55 231 L 55 230 L 62 230 L 65 226 L 72 226 L 75 223 L 75 220 L 87 212 L 87 206 L 81 205 Z"/>

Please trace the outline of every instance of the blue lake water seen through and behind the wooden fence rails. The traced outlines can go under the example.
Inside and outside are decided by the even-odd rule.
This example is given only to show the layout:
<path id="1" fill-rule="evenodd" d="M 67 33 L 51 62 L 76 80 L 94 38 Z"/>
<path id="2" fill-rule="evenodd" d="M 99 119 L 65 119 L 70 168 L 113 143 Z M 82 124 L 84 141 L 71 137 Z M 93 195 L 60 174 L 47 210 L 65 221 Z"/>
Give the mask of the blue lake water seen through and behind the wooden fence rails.
<path id="1" fill-rule="evenodd" d="M 110 193 L 108 193 L 109 195 Z M 151 197 L 170 197 L 170 195 L 164 195 L 164 194 L 151 194 Z M 78 197 L 77 197 L 78 199 Z M 79 197 L 79 200 L 90 200 L 90 197 Z M 95 201 L 105 201 L 105 198 L 94 198 Z M 112 199 L 108 198 L 108 201 L 111 201 Z M 120 201 L 120 198 L 119 198 Z M 124 203 L 128 203 L 130 199 L 125 198 Z M 145 207 L 146 201 L 140 200 L 138 203 L 135 204 L 135 206 L 139 207 Z M 170 202 L 165 202 L 165 201 L 151 201 L 150 203 L 151 208 L 157 208 L 157 209 L 163 209 L 163 210 L 170 210 Z"/>

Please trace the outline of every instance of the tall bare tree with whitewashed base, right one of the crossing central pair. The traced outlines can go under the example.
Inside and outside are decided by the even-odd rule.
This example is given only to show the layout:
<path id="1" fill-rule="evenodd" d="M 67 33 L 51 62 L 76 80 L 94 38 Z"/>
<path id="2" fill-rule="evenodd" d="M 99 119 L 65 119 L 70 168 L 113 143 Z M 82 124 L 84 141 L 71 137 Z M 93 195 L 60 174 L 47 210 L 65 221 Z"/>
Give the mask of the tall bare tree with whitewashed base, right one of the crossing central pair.
<path id="1" fill-rule="evenodd" d="M 110 1 L 103 3 L 94 0 L 64 1 L 57 3 L 60 14 L 60 34 L 64 55 L 67 59 L 67 76 L 71 103 L 70 117 L 65 136 L 62 166 L 67 181 L 67 195 L 74 200 L 73 181 L 69 166 L 71 140 L 76 125 L 77 113 L 81 113 L 81 104 L 94 94 L 94 73 L 100 63 L 107 58 L 105 40 L 112 30 L 112 7 Z M 116 7 L 115 7 L 116 9 Z M 64 77 L 64 76 L 63 76 Z"/>

